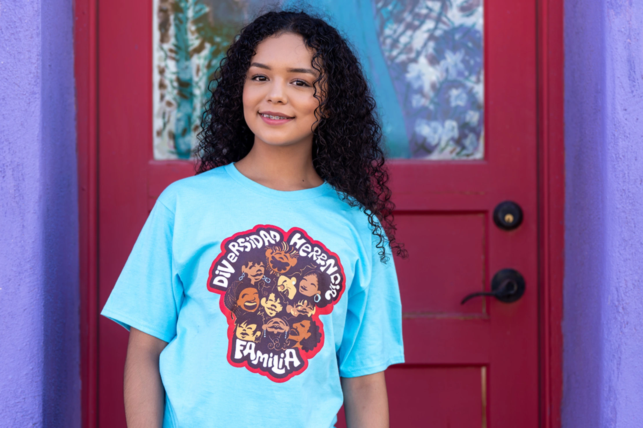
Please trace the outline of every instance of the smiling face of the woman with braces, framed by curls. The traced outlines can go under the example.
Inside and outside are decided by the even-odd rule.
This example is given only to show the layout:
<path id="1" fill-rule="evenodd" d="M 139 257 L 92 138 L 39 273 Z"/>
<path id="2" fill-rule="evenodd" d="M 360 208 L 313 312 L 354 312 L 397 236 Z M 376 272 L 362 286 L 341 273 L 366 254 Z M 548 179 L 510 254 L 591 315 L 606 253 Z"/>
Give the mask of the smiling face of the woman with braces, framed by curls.
<path id="1" fill-rule="evenodd" d="M 260 42 L 251 58 L 243 89 L 246 123 L 255 144 L 312 144 L 319 101 L 312 82 L 312 51 L 300 35 L 283 33 Z"/>

